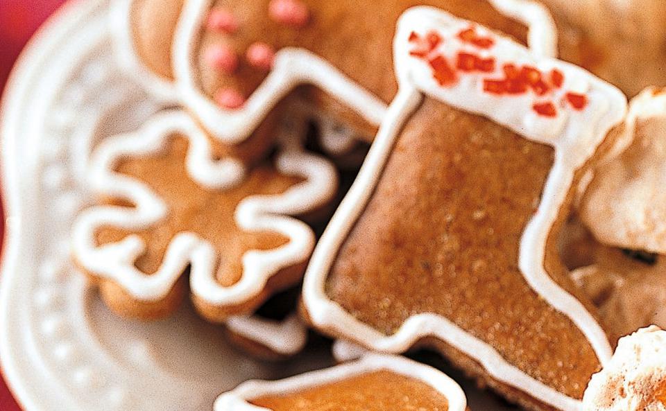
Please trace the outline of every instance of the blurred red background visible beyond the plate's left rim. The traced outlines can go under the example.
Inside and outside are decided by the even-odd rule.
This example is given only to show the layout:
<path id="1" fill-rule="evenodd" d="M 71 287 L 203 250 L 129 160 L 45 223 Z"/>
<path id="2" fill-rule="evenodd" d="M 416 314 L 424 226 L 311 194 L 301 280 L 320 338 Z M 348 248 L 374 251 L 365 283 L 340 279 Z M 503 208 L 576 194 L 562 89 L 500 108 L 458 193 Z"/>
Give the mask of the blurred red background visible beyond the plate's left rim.
<path id="1" fill-rule="evenodd" d="M 63 2 L 64 0 L 0 0 L 0 91 L 4 89 L 12 65 L 28 39 Z M 3 231 L 3 222 L 0 209 L 0 232 Z M 2 378 L 0 410 L 21 410 Z"/>

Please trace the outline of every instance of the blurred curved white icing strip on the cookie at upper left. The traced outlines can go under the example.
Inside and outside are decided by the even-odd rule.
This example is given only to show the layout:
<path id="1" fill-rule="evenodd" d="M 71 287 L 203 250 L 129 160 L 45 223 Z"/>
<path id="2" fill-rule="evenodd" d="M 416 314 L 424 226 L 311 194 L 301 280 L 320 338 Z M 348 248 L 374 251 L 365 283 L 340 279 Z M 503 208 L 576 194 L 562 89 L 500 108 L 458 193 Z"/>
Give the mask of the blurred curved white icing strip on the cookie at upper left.
<path id="1" fill-rule="evenodd" d="M 132 10 L 136 0 L 116 0 L 109 13 L 113 55 L 124 73 L 133 78 L 144 90 L 164 105 L 178 103 L 173 81 L 158 76 L 141 61 L 136 50 L 132 30 Z"/>

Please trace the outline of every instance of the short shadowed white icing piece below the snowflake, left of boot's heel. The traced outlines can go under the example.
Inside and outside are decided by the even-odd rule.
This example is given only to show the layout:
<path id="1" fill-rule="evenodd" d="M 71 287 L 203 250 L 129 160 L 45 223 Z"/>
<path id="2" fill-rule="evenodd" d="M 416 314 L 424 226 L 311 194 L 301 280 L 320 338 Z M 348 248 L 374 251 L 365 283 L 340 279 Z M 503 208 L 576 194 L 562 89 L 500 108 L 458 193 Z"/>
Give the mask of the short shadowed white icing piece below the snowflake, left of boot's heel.
<path id="1" fill-rule="evenodd" d="M 237 315 L 230 317 L 225 326 L 232 333 L 282 356 L 296 355 L 307 344 L 307 327 L 296 314 L 283 321 L 267 320 L 258 315 Z"/>

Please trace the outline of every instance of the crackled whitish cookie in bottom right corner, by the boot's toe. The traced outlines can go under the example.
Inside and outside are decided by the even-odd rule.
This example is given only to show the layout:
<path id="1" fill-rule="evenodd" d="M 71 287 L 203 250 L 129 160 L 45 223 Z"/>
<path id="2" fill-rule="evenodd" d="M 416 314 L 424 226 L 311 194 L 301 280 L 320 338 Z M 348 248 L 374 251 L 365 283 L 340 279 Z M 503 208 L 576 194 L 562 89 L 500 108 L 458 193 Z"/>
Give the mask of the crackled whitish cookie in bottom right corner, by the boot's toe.
<path id="1" fill-rule="evenodd" d="M 656 326 L 622 338 L 613 359 L 588 385 L 583 411 L 666 410 L 666 331 Z"/>

